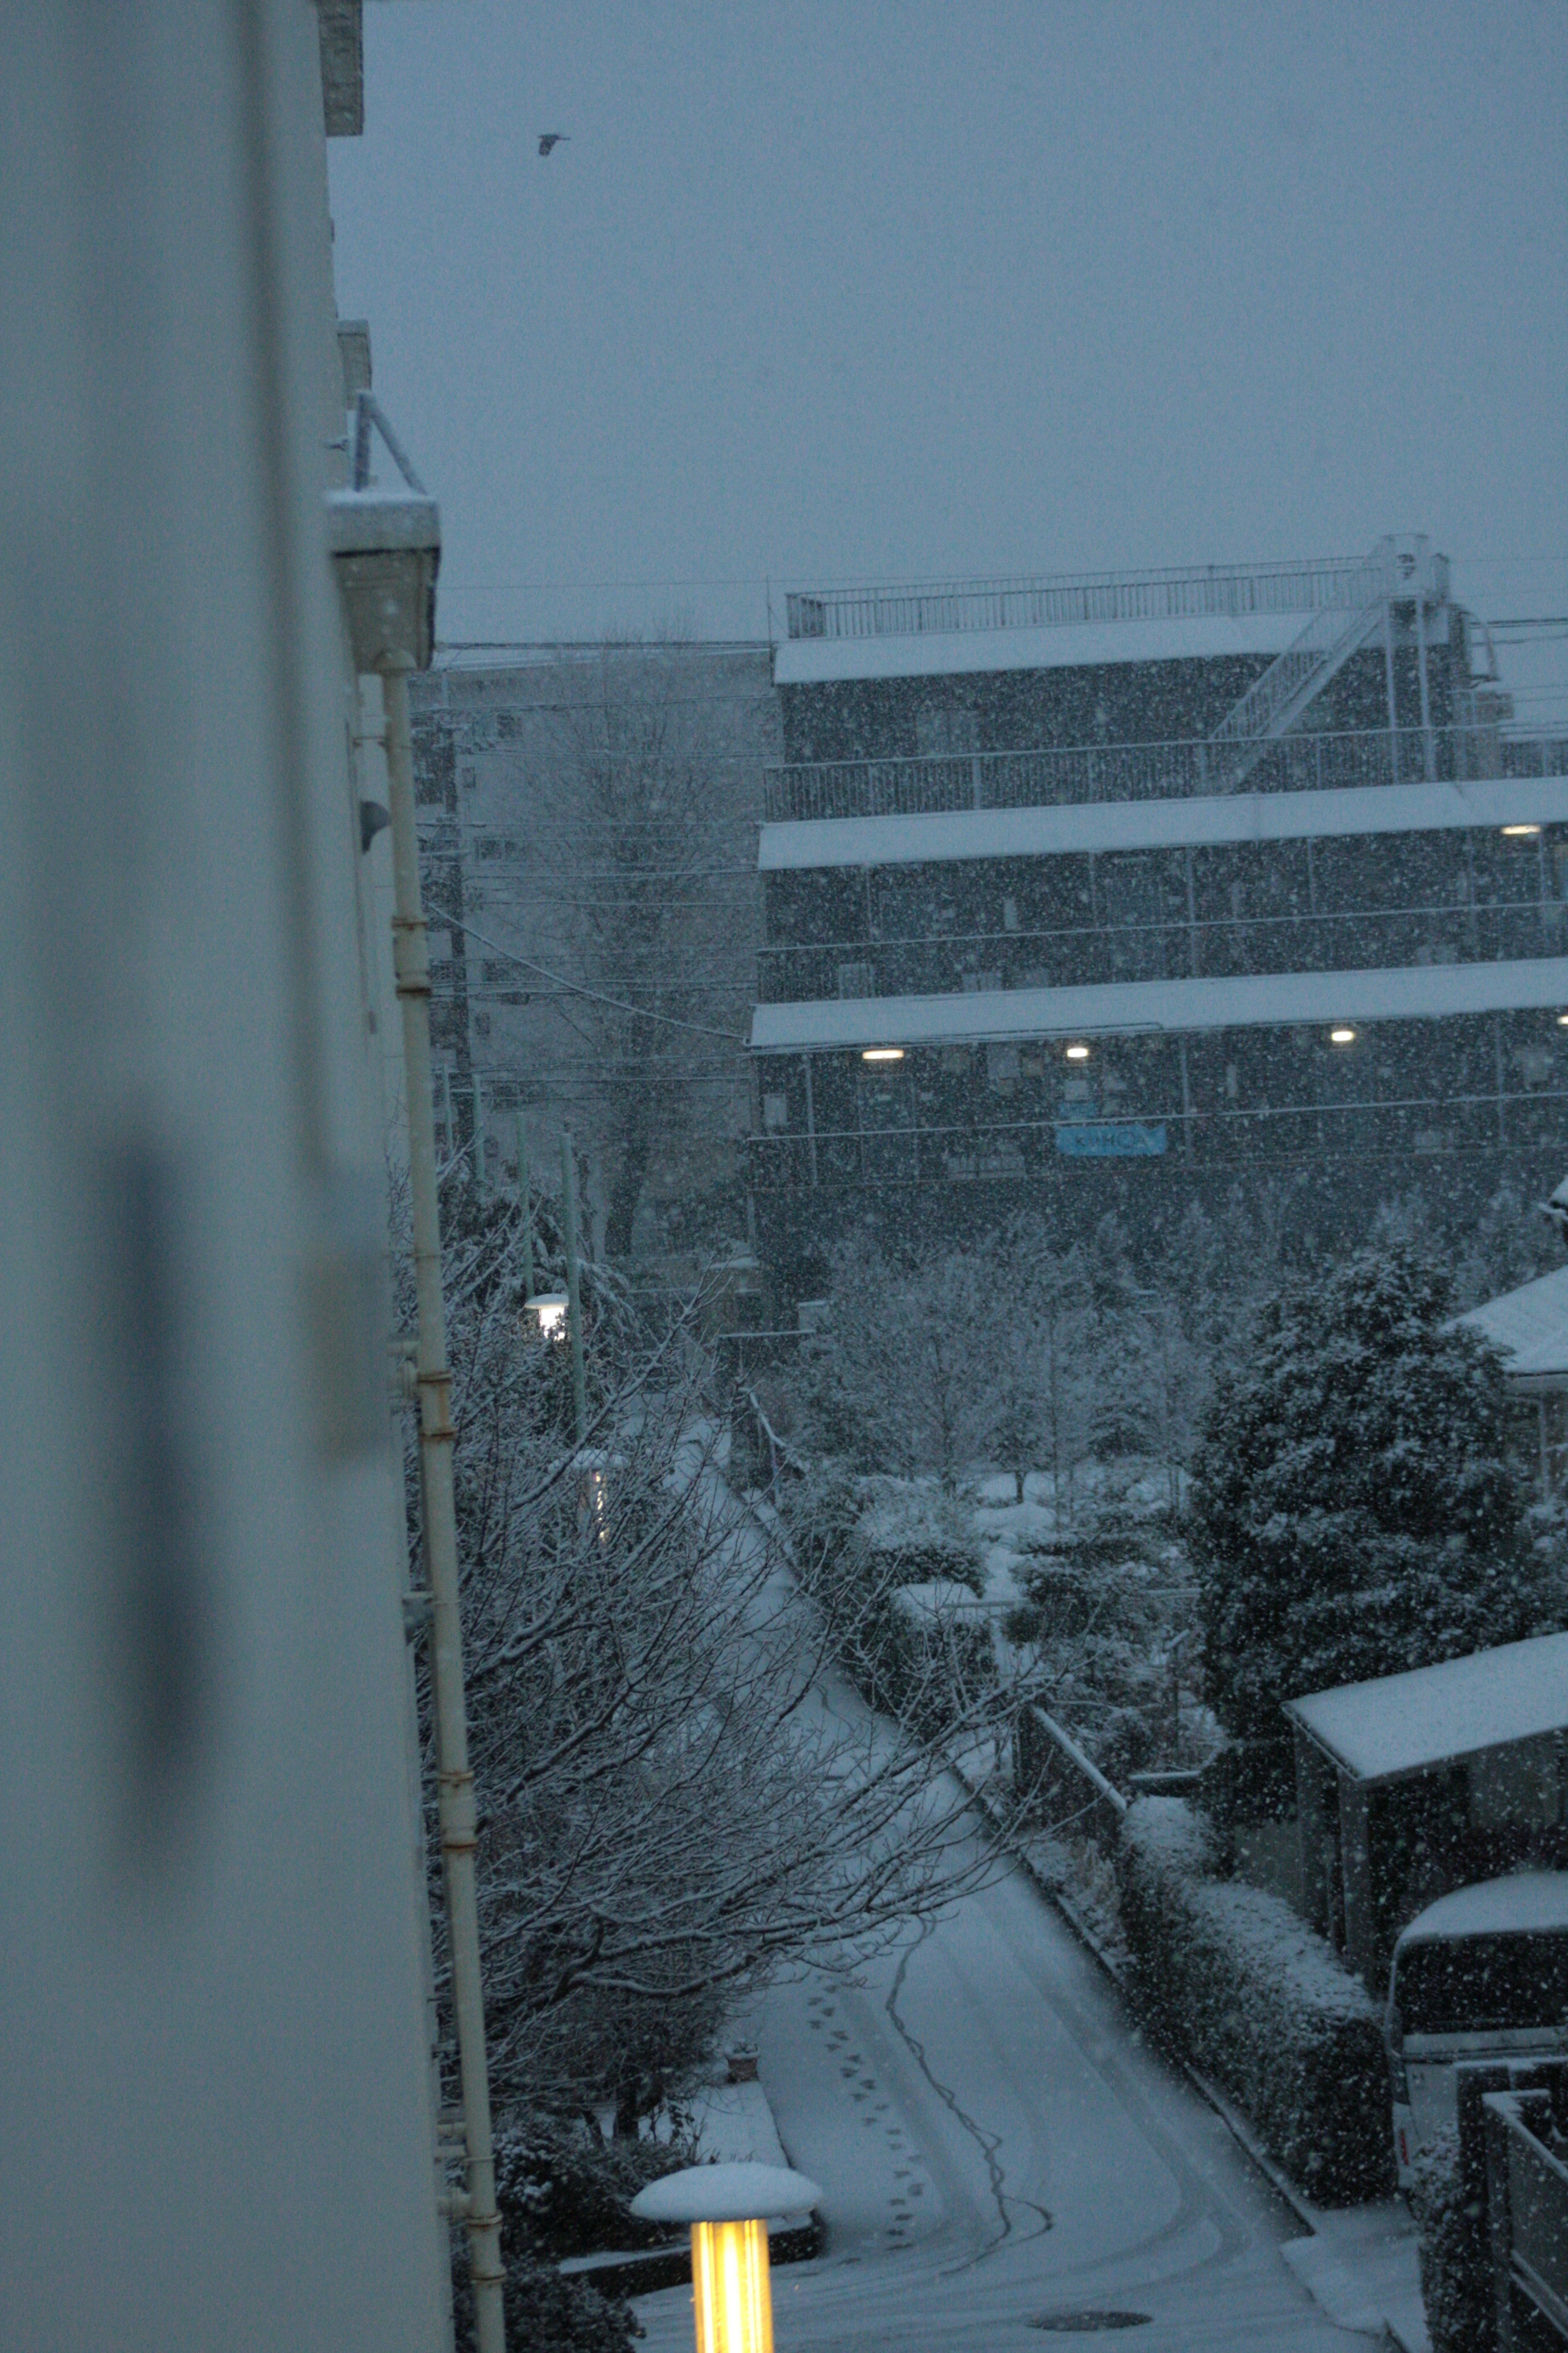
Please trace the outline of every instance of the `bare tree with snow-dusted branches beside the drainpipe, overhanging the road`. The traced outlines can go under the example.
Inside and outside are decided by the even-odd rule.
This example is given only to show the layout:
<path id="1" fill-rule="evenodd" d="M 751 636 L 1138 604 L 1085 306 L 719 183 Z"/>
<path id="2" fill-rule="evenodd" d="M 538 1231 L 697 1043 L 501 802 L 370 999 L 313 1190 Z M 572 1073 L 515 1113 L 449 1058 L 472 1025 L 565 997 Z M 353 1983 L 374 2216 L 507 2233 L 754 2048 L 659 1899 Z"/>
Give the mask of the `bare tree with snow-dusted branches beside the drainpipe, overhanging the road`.
<path id="1" fill-rule="evenodd" d="M 588 1454 L 522 1332 L 520 1224 L 447 1254 L 480 1925 L 501 2108 L 646 2115 L 724 2005 L 971 1882 L 943 1748 L 827 1708 L 842 1628 L 717 1478 L 684 1334 L 599 1301 Z M 409 1482 L 418 1513 L 418 1480 Z M 416 1534 L 416 1529 L 414 1529 Z"/>

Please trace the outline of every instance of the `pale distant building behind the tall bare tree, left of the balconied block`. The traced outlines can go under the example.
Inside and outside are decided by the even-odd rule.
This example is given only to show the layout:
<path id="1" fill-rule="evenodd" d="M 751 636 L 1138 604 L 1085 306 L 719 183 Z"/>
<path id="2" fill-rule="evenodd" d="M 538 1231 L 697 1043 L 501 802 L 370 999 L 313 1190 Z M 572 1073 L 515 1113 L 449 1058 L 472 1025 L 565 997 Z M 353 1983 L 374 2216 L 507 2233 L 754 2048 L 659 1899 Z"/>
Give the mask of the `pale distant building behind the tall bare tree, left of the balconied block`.
<path id="1" fill-rule="evenodd" d="M 595 1247 L 745 1233 L 766 645 L 447 647 L 414 687 L 440 1141 L 588 1158 Z"/>

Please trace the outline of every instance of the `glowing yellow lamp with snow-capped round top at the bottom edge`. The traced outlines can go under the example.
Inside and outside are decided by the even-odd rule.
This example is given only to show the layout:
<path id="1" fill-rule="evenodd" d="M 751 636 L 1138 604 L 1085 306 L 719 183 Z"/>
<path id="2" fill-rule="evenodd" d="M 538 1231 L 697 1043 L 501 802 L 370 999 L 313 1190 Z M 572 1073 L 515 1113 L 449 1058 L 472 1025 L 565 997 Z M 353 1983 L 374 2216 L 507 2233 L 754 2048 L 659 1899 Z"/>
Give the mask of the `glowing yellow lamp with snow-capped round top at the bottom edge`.
<path id="1" fill-rule="evenodd" d="M 691 2224 L 696 2353 L 773 2353 L 769 2214 L 809 2214 L 816 2181 L 785 2165 L 689 2165 L 632 2198 L 642 2221 Z"/>

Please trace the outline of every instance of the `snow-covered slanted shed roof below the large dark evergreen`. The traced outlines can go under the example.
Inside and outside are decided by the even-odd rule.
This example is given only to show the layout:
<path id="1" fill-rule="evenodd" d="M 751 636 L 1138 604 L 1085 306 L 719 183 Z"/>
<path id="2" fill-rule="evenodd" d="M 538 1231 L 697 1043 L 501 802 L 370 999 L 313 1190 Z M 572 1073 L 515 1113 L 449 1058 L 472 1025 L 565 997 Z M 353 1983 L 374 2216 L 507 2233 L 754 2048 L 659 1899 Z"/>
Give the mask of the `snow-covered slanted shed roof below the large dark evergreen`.
<path id="1" fill-rule="evenodd" d="M 1408 1675 L 1288 1699 L 1286 1715 L 1356 1781 L 1387 1781 L 1568 1727 L 1568 1633 Z"/>

